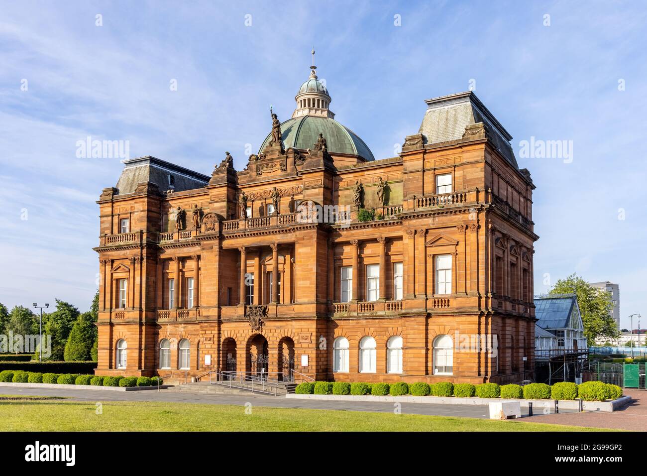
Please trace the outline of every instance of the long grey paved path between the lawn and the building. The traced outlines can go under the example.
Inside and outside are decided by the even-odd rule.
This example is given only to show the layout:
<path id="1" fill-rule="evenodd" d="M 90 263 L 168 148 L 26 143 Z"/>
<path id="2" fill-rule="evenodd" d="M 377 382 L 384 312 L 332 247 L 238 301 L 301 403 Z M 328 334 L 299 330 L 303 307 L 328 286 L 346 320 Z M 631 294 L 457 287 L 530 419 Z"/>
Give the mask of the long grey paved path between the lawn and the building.
<path id="1" fill-rule="evenodd" d="M 245 405 L 250 402 L 259 407 L 306 408 L 320 410 L 375 411 L 393 413 L 391 402 L 338 402 L 331 400 L 296 400 L 281 396 L 261 396 L 254 394 L 204 394 L 174 392 L 168 390 L 115 392 L 83 389 L 34 389 L 21 387 L 0 387 L 0 394 L 64 396 L 82 402 L 183 402 L 211 403 L 212 405 Z M 487 405 L 439 405 L 430 403 L 401 403 L 402 413 L 467 416 L 471 418 L 488 418 Z"/>

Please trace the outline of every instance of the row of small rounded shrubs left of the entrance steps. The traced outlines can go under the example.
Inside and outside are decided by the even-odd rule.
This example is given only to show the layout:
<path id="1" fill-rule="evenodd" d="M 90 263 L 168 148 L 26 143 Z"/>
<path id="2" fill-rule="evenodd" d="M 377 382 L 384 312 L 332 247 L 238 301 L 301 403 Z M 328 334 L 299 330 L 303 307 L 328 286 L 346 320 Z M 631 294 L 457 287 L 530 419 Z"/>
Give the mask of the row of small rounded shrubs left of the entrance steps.
<path id="1" fill-rule="evenodd" d="M 98 387 L 149 387 L 162 385 L 159 377 L 105 377 L 100 375 L 54 374 L 52 372 L 25 372 L 25 370 L 3 370 L 0 382 L 14 383 L 61 383 L 63 385 L 94 385 Z M 333 385 L 331 383 L 331 385 Z M 350 385 L 350 384 L 349 384 Z"/>

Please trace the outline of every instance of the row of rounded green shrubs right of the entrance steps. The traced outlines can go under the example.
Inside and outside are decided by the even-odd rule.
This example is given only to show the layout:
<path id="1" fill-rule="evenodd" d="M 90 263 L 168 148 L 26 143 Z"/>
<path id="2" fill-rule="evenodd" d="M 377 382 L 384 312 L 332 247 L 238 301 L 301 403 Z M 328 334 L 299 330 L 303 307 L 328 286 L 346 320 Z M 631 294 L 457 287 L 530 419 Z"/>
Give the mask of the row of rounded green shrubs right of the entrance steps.
<path id="1" fill-rule="evenodd" d="M 1 374 L 0 374 L 1 375 Z M 294 389 L 298 394 L 317 395 L 413 395 L 413 396 L 444 396 L 444 397 L 473 397 L 477 398 L 523 398 L 525 400 L 575 400 L 582 398 L 587 401 L 615 400 L 622 396 L 622 389 L 617 385 L 591 381 L 580 383 L 558 382 L 553 386 L 545 383 L 529 383 L 528 385 L 498 385 L 498 383 L 438 382 L 429 385 L 424 382 L 406 383 L 364 383 L 364 382 L 303 382 Z"/>

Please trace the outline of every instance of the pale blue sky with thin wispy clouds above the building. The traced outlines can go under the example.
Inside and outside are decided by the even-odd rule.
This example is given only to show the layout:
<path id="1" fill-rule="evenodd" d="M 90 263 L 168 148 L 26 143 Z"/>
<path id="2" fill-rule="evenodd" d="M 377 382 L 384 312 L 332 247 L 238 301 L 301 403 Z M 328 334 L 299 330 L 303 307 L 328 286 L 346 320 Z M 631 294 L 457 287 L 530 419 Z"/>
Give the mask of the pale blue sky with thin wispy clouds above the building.
<path id="1" fill-rule="evenodd" d="M 647 8 L 235 4 L 2 3 L 0 302 L 89 307 L 98 271 L 94 202 L 122 164 L 77 158 L 76 141 L 127 140 L 131 157 L 155 155 L 204 174 L 228 150 L 242 168 L 246 144 L 256 152 L 269 133 L 269 105 L 281 120 L 291 115 L 314 45 L 336 119 L 377 159 L 417 133 L 424 99 L 474 80 L 537 186 L 535 292 L 548 288 L 545 273 L 551 282 L 573 272 L 610 280 L 620 285 L 622 326 L 635 312 L 647 324 Z M 573 141 L 572 163 L 520 158 L 520 141 L 531 137 Z"/>

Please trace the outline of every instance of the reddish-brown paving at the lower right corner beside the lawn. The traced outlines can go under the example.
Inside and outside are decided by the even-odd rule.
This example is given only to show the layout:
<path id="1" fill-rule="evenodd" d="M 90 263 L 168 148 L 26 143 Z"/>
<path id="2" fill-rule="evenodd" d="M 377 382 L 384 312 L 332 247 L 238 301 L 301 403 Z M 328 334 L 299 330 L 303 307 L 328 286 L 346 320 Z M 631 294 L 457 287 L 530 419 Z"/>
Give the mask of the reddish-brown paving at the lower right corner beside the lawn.
<path id="1" fill-rule="evenodd" d="M 585 413 L 542 414 L 524 418 L 523 421 L 647 431 L 647 391 L 626 389 L 625 394 L 630 395 L 633 402 L 613 413 L 591 411 Z"/>

